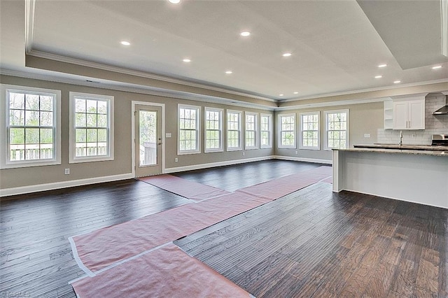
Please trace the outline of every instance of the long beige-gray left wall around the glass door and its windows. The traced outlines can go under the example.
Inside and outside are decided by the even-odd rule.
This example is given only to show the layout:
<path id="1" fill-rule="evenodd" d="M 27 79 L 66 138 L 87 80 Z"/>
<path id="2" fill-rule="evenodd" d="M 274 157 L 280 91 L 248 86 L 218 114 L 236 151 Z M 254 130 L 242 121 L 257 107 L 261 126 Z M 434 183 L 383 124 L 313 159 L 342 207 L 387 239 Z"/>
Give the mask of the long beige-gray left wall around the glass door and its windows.
<path id="1" fill-rule="evenodd" d="M 233 152 L 209 152 L 204 153 L 204 125 L 201 124 L 202 132 L 201 146 L 202 153 L 194 155 L 177 155 L 177 109 L 178 104 L 190 104 L 204 106 L 229 108 L 238 111 L 251 111 L 256 113 L 271 113 L 272 111 L 239 108 L 237 106 L 226 106 L 221 104 L 209 104 L 202 101 L 187 101 L 183 99 L 172 99 L 167 97 L 157 97 L 147 94 L 132 92 L 121 92 L 107 90 L 96 87 L 86 87 L 81 85 L 71 85 L 65 83 L 55 83 L 45 80 L 33 80 L 28 78 L 17 78 L 13 76 L 0 76 L 0 83 L 8 85 L 19 85 L 27 87 L 40 87 L 52 90 L 61 90 L 61 110 L 62 110 L 62 164 L 52 166 L 34 166 L 18 169 L 0 170 L 0 187 L 2 189 L 10 187 L 22 187 L 28 185 L 40 185 L 44 183 L 57 183 L 68 180 L 79 180 L 86 178 L 97 178 L 104 176 L 114 176 L 132 173 L 132 101 L 146 101 L 165 104 L 166 132 L 172 133 L 172 138 L 165 140 L 165 160 L 167 169 L 179 166 L 192 166 L 196 164 L 208 164 L 213 162 L 232 162 L 237 159 L 251 159 L 256 157 L 267 157 L 274 154 L 274 149 L 244 150 Z M 105 162 L 85 162 L 69 164 L 69 92 L 85 92 L 90 94 L 104 94 L 114 97 L 114 160 Z M 2 95 L 4 96 L 4 95 Z M 244 113 L 243 113 L 244 116 Z M 202 115 L 203 120 L 203 115 Z M 258 117 L 258 121 L 260 118 Z M 4 124 L 1 123 L 2 129 Z M 243 122 L 244 130 L 244 122 Z M 179 162 L 174 159 L 178 157 Z M 70 175 L 64 175 L 64 169 L 70 169 Z"/>

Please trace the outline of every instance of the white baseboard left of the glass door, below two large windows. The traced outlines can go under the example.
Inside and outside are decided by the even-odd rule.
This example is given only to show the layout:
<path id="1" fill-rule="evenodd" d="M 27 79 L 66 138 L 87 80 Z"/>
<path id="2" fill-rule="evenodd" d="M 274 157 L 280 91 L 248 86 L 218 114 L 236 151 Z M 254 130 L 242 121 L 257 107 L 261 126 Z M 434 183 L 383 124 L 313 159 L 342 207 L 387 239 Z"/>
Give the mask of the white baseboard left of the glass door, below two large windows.
<path id="1" fill-rule="evenodd" d="M 116 180 L 125 180 L 134 178 L 132 173 L 104 176 L 104 177 L 94 177 L 78 180 L 61 181 L 55 183 L 45 183 L 38 185 L 27 185 L 20 187 L 10 187 L 5 189 L 0 189 L 0 197 L 13 196 L 16 194 L 28 194 L 30 192 L 43 192 L 45 190 L 57 190 L 60 188 L 89 185 L 94 183 L 111 182 Z"/>

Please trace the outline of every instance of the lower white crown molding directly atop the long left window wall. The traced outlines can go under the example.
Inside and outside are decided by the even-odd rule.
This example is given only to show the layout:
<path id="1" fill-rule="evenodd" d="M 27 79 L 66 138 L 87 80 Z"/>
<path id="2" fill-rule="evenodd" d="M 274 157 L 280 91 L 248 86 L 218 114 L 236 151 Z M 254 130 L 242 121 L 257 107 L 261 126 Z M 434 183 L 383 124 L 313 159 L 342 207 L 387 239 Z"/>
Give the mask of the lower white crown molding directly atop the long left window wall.
<path id="1" fill-rule="evenodd" d="M 276 108 L 269 107 L 269 106 L 263 106 L 260 104 L 251 104 L 246 101 L 236 101 L 234 99 L 226 99 L 223 97 L 211 97 L 209 95 L 202 95 L 202 94 L 193 94 L 190 92 L 181 92 L 181 91 L 174 91 L 174 90 L 165 90 L 162 88 L 155 88 L 155 87 L 142 87 L 140 85 L 132 85 L 129 84 L 126 85 L 114 85 L 111 83 L 107 83 L 106 81 L 102 81 L 99 83 L 92 83 L 87 82 L 85 78 L 83 79 L 73 79 L 73 78 L 62 78 L 59 76 L 48 76 L 43 75 L 40 73 L 28 73 L 25 71 L 12 71 L 8 69 L 0 69 L 0 75 L 4 76 L 16 76 L 20 78 L 31 78 L 34 80 L 46 80 L 50 82 L 55 83 L 64 83 L 64 84 L 72 84 L 72 85 L 80 85 L 80 86 L 86 86 L 86 87 L 94 87 L 99 89 L 107 89 L 107 90 L 116 90 L 116 91 L 123 91 L 123 92 L 133 92 L 133 93 L 139 93 L 139 94 L 147 94 L 147 95 L 153 95 L 157 97 L 167 97 L 171 99 L 185 99 L 188 101 L 201 101 L 201 102 L 210 102 L 214 104 L 226 104 L 229 106 L 239 106 L 239 107 L 245 107 L 245 108 L 258 108 L 260 110 L 265 111 L 275 111 Z"/>

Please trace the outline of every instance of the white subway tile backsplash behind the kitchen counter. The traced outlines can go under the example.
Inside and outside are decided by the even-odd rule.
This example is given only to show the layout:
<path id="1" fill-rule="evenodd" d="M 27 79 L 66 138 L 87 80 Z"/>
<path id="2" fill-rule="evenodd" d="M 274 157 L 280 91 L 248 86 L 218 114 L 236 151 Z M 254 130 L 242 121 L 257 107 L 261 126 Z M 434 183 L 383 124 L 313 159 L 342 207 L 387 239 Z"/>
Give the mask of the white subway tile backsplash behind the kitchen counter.
<path id="1" fill-rule="evenodd" d="M 433 115 L 433 111 L 442 108 L 447 100 L 444 94 L 428 94 L 425 101 L 425 130 L 403 130 L 403 144 L 430 145 L 433 134 L 448 134 L 448 115 Z M 400 142 L 400 131 L 378 129 L 378 143 Z"/>

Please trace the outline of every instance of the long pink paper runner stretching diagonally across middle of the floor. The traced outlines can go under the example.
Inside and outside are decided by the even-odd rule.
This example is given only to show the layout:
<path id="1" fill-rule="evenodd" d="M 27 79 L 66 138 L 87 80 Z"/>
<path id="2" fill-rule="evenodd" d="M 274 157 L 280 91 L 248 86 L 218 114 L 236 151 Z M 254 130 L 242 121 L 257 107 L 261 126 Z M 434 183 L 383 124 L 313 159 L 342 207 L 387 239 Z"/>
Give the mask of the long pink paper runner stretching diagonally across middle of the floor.
<path id="1" fill-rule="evenodd" d="M 328 176 L 318 173 L 297 173 L 215 199 L 73 236 L 70 239 L 73 255 L 79 266 L 92 275 L 116 262 L 193 234 L 325 178 Z"/>

